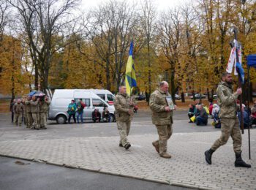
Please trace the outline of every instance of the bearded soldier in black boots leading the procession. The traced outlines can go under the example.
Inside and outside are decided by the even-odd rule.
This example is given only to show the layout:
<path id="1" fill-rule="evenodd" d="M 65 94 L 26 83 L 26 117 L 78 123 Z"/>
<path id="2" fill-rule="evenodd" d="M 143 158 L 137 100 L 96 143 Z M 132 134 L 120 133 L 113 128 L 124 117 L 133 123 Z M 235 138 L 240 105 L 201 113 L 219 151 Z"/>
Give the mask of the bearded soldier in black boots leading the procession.
<path id="1" fill-rule="evenodd" d="M 233 150 L 236 154 L 235 167 L 251 167 L 251 165 L 246 164 L 241 158 L 242 138 L 236 113 L 236 99 L 242 94 L 242 90 L 238 88 L 237 91 L 233 93 L 232 83 L 232 75 L 227 72 L 223 73 L 222 82 L 219 83 L 217 88 L 217 101 L 220 107 L 219 118 L 221 118 L 222 123 L 222 134 L 219 139 L 214 142 L 214 145 L 205 152 L 206 162 L 211 164 L 211 156 L 214 151 L 220 146 L 225 145 L 231 136 L 233 140 Z"/>

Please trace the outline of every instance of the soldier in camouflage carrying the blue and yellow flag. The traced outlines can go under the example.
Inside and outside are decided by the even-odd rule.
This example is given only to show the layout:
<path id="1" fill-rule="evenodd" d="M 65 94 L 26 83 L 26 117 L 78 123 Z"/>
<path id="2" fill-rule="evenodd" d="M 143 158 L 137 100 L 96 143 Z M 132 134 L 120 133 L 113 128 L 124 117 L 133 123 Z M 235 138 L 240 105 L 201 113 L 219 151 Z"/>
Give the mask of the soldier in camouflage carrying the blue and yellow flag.
<path id="1" fill-rule="evenodd" d="M 125 86 L 119 87 L 119 93 L 116 94 L 114 99 L 114 106 L 116 108 L 116 124 L 120 135 L 119 146 L 128 149 L 131 144 L 127 140 L 127 136 L 131 126 L 135 102 L 129 99 L 126 91 L 127 88 Z"/>

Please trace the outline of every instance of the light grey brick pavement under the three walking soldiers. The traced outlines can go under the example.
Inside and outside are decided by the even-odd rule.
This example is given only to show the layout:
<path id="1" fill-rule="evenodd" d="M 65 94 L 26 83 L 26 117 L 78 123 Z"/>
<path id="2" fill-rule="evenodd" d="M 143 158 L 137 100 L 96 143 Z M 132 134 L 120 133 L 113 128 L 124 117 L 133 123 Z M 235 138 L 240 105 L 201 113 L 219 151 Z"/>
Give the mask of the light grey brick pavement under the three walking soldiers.
<path id="1" fill-rule="evenodd" d="M 234 167 L 231 140 L 214 153 L 212 165 L 206 164 L 203 153 L 219 134 L 173 134 L 168 141 L 172 159 L 162 159 L 154 150 L 156 134 L 129 136 L 128 151 L 118 147 L 118 137 L 8 140 L 0 142 L 0 155 L 198 189 L 256 189 L 256 130 L 251 133 L 252 160 L 243 135 L 243 158 L 251 169 Z"/>

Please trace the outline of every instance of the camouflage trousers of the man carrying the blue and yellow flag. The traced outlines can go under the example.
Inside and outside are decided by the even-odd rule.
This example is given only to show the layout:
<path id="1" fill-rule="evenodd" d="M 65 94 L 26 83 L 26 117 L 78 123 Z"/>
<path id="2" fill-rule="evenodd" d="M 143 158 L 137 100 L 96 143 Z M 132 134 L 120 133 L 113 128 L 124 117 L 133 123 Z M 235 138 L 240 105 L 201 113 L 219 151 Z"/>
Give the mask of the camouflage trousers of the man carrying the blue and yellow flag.
<path id="1" fill-rule="evenodd" d="M 124 146 L 129 143 L 127 140 L 127 136 L 129 135 L 131 121 L 116 121 L 116 124 L 120 135 L 120 144 Z"/>

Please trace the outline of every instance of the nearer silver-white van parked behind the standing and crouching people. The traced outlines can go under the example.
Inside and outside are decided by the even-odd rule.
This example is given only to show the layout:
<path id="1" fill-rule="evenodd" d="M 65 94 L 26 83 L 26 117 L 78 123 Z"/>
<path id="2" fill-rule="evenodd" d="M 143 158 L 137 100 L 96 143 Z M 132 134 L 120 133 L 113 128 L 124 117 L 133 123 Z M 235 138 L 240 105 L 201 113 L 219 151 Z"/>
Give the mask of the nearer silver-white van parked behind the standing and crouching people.
<path id="1" fill-rule="evenodd" d="M 66 123 L 69 115 L 67 114 L 67 107 L 71 100 L 79 102 L 79 99 L 83 99 L 86 107 L 83 110 L 83 119 L 92 121 L 91 113 L 97 108 L 102 114 L 104 107 L 108 107 L 111 116 L 111 122 L 115 121 L 115 107 L 105 102 L 97 94 L 94 94 L 91 90 L 83 89 L 64 89 L 55 90 L 53 99 L 50 102 L 49 120 L 56 120 L 57 123 Z"/>

